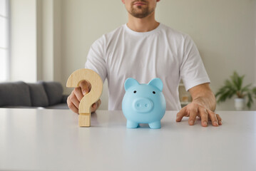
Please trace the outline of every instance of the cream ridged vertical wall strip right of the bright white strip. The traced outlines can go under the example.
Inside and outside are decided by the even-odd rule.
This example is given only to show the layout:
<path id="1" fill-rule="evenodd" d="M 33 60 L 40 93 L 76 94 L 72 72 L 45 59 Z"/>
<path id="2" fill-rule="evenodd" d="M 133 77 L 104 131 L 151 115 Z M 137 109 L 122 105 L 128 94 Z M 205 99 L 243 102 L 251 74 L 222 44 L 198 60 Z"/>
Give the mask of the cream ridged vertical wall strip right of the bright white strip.
<path id="1" fill-rule="evenodd" d="M 62 79 L 61 60 L 61 0 L 37 0 L 41 13 L 38 22 L 41 24 L 41 71 L 43 81 L 59 81 Z M 39 10 L 38 9 L 38 10 Z"/>

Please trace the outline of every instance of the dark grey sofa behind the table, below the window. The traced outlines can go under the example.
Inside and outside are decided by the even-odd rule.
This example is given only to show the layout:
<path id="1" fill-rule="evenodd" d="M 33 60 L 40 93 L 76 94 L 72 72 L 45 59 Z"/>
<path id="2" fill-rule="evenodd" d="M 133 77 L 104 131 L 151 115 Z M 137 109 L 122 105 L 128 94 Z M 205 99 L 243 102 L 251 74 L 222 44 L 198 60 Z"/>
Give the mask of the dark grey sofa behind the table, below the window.
<path id="1" fill-rule="evenodd" d="M 63 87 L 58 82 L 0 83 L 0 108 L 68 109 Z"/>

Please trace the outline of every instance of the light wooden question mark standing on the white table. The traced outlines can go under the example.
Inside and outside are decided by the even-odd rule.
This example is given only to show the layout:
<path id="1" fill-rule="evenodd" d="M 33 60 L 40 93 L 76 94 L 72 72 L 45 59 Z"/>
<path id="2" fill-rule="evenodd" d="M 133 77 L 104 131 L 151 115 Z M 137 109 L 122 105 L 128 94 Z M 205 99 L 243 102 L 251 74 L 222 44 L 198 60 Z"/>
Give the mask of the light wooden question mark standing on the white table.
<path id="1" fill-rule="evenodd" d="M 98 73 L 92 71 L 91 69 L 78 69 L 71 73 L 66 87 L 76 88 L 79 86 L 79 83 L 83 80 L 91 83 L 91 91 L 84 95 L 78 108 L 79 118 L 78 124 L 80 127 L 90 127 L 91 126 L 91 105 L 96 103 L 101 97 L 103 90 L 103 83 L 101 77 L 98 76 Z"/>

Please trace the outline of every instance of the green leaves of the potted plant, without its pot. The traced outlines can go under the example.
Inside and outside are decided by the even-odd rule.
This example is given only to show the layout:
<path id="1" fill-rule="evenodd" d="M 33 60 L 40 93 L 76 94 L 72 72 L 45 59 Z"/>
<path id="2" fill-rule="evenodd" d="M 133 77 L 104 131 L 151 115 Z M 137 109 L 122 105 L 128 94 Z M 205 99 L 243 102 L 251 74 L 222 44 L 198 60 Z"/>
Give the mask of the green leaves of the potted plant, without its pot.
<path id="1" fill-rule="evenodd" d="M 256 97 L 256 88 L 250 88 L 252 84 L 242 86 L 244 76 L 239 76 L 235 71 L 229 80 L 225 81 L 222 86 L 215 94 L 217 103 L 224 102 L 227 98 L 232 98 L 234 95 L 237 98 L 247 98 L 247 107 L 250 108 L 253 103 L 253 97 Z"/>

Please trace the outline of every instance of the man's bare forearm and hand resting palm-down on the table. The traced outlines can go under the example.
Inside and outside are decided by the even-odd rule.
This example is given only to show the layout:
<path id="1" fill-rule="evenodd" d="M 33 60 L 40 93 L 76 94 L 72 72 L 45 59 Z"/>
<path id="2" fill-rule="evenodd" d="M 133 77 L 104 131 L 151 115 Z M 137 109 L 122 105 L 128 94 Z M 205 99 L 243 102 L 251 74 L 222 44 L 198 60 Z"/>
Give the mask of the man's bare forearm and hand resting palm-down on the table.
<path id="1" fill-rule="evenodd" d="M 207 126 L 208 120 L 213 126 L 222 125 L 220 115 L 214 113 L 216 100 L 213 91 L 210 90 L 209 83 L 203 83 L 189 89 L 192 103 L 186 105 L 177 113 L 176 122 L 180 122 L 184 116 L 189 117 L 188 123 L 194 125 L 195 118 L 201 118 L 202 126 Z"/>

